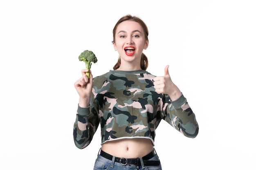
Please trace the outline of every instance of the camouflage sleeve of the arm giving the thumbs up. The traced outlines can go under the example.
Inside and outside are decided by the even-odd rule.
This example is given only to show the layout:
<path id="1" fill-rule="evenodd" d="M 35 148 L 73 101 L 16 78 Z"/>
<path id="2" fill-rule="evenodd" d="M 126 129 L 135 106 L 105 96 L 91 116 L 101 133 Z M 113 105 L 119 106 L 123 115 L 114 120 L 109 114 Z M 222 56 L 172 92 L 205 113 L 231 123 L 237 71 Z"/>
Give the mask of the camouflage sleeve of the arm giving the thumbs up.
<path id="1" fill-rule="evenodd" d="M 186 101 L 186 98 L 183 94 L 179 99 L 172 102 L 168 95 L 165 95 L 165 98 L 168 99 L 168 102 L 164 105 L 163 119 L 184 136 L 195 138 L 198 135 L 199 126 L 195 119 L 195 114 Z"/>

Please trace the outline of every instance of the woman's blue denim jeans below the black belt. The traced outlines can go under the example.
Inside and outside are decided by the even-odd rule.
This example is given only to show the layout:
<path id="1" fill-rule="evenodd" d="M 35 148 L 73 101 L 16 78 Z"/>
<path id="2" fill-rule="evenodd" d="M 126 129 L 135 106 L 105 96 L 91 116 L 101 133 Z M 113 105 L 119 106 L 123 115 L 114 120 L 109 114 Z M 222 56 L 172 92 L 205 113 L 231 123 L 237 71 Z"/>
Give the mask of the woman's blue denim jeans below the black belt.
<path id="1" fill-rule="evenodd" d="M 115 158 L 114 158 L 115 159 Z M 148 160 L 159 160 L 157 154 Z M 119 162 L 111 161 L 98 155 L 93 170 L 138 170 L 137 165 L 122 165 Z M 139 166 L 139 170 L 162 170 L 161 163 L 159 166 Z"/>

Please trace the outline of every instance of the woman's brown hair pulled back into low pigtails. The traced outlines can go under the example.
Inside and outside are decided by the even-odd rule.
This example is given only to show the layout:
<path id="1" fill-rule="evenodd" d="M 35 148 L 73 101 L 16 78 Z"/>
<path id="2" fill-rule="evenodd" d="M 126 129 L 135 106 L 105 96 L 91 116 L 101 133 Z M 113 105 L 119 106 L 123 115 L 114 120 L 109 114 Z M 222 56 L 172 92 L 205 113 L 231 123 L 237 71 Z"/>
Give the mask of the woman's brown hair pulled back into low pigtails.
<path id="1" fill-rule="evenodd" d="M 123 16 L 122 18 L 120 18 L 117 21 L 117 23 L 113 29 L 113 41 L 112 41 L 113 44 L 115 43 L 115 33 L 117 30 L 117 26 L 121 22 L 124 22 L 127 20 L 138 22 L 141 25 L 142 29 L 144 30 L 144 35 L 145 35 L 146 40 L 148 40 L 148 27 L 146 26 L 146 24 L 139 17 L 132 16 L 132 15 L 128 14 L 128 15 Z M 120 64 L 121 64 L 121 57 L 118 58 L 118 61 L 115 64 L 115 66 L 113 67 L 113 69 L 116 70 L 117 68 L 119 68 Z M 140 67 L 142 70 L 146 70 L 148 68 L 148 58 L 144 53 L 141 54 Z"/>

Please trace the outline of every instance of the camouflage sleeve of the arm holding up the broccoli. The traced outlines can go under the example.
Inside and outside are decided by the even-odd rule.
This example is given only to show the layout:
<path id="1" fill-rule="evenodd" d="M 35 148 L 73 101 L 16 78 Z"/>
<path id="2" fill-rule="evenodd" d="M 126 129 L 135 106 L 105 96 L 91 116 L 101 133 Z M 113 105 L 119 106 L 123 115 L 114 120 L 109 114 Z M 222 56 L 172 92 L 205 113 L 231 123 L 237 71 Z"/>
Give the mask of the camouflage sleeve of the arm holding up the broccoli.
<path id="1" fill-rule="evenodd" d="M 92 105 L 88 108 L 78 106 L 73 137 L 74 143 L 79 149 L 83 149 L 90 144 L 99 126 L 98 114 L 93 110 Z"/>

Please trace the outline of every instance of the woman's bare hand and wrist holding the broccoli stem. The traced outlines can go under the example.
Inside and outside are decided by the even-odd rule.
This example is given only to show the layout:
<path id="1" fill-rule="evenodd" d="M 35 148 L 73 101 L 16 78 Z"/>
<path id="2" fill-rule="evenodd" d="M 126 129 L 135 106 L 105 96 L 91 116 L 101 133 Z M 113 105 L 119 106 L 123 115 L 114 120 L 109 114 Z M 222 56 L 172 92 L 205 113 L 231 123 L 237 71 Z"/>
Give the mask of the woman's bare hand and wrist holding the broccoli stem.
<path id="1" fill-rule="evenodd" d="M 88 69 L 83 69 L 81 72 L 82 77 L 74 83 L 74 86 L 79 94 L 79 106 L 85 108 L 90 106 L 92 93 L 92 73 L 90 72 L 90 79 L 88 79 L 87 75 L 85 74 L 88 72 Z"/>

